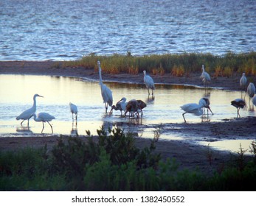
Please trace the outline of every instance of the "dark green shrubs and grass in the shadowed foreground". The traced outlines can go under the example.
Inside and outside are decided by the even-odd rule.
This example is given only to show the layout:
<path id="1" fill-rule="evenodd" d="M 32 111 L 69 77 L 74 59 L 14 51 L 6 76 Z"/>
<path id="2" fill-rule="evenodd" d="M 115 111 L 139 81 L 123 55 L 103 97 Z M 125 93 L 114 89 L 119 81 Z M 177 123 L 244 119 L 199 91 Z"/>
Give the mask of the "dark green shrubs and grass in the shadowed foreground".
<path id="1" fill-rule="evenodd" d="M 138 149 L 121 129 L 99 129 L 94 140 L 62 138 L 49 151 L 0 152 L 0 191 L 249 191 L 255 188 L 255 142 L 252 158 L 244 151 L 235 164 L 207 175 L 179 169 L 175 159 L 161 160 L 151 146 Z M 210 166 L 210 165 L 209 165 Z"/>

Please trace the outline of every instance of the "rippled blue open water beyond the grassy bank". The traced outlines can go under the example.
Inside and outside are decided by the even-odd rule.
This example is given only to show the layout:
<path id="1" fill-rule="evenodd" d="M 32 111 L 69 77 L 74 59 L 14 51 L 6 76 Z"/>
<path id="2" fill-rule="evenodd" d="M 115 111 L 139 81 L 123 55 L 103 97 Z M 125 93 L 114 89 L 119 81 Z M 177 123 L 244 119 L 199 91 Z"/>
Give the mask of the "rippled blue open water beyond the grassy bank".
<path id="1" fill-rule="evenodd" d="M 0 60 L 256 50 L 255 0 L 0 1 Z"/>

